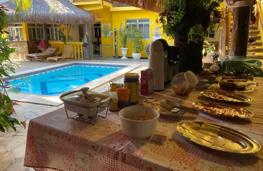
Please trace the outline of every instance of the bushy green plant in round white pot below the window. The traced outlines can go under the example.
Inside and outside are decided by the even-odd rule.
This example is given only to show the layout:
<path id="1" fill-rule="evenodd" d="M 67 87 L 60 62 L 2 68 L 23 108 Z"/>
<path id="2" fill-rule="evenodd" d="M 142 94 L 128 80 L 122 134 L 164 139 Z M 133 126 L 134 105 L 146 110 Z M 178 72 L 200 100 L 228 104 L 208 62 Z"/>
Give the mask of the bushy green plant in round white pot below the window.
<path id="1" fill-rule="evenodd" d="M 142 57 L 141 51 L 143 50 L 143 41 L 140 39 L 144 38 L 144 35 L 140 30 L 137 28 L 132 28 L 129 33 L 129 38 L 132 40 L 132 48 L 133 48 L 133 53 L 132 57 L 134 59 L 140 59 Z"/>

